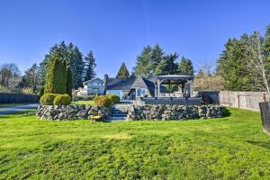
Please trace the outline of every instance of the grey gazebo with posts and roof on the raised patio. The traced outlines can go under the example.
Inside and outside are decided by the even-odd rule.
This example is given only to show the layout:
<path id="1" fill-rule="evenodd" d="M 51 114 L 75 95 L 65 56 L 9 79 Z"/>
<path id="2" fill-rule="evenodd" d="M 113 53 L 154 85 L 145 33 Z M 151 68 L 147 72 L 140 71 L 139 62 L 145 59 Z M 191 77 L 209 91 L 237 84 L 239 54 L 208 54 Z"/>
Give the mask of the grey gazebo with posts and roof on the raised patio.
<path id="1" fill-rule="evenodd" d="M 193 78 L 194 76 L 188 75 L 165 75 L 157 76 L 155 80 L 155 96 L 160 97 L 160 86 L 161 85 L 178 85 L 181 87 L 182 94 L 184 94 L 184 87 L 186 83 L 189 83 L 188 97 L 193 94 Z"/>

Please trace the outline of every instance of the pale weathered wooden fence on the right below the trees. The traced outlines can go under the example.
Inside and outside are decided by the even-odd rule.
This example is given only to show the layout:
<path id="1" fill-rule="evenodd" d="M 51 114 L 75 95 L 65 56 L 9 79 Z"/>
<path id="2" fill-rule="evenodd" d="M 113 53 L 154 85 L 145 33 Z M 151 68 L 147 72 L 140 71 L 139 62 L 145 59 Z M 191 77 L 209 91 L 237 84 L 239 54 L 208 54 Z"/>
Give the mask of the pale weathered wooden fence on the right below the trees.
<path id="1" fill-rule="evenodd" d="M 221 105 L 238 107 L 249 110 L 259 111 L 259 103 L 264 102 L 263 92 L 236 92 L 236 91 L 220 91 L 219 102 Z M 269 95 L 266 95 L 269 101 Z"/>

